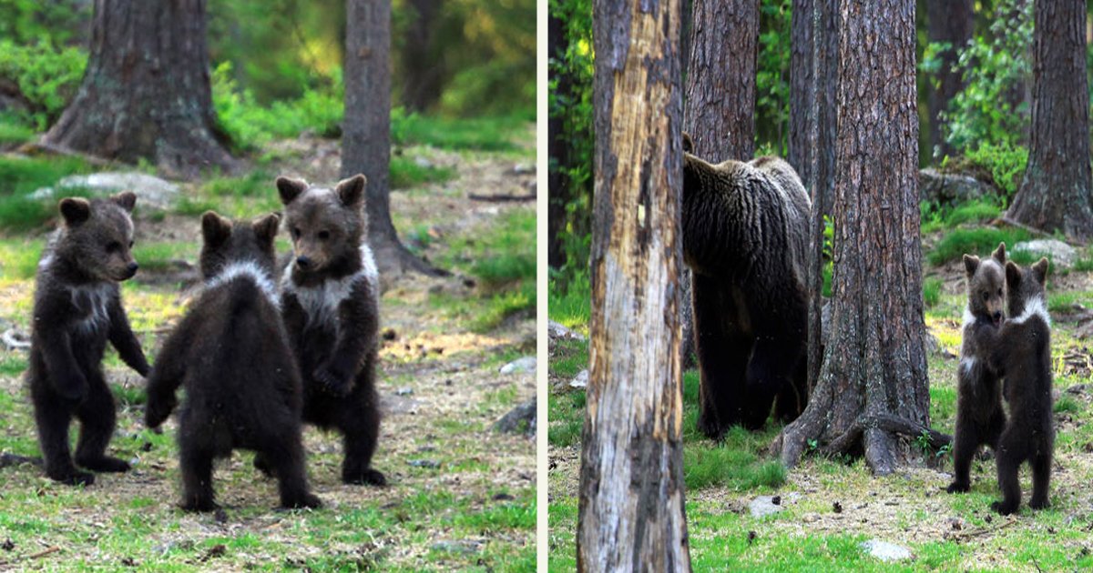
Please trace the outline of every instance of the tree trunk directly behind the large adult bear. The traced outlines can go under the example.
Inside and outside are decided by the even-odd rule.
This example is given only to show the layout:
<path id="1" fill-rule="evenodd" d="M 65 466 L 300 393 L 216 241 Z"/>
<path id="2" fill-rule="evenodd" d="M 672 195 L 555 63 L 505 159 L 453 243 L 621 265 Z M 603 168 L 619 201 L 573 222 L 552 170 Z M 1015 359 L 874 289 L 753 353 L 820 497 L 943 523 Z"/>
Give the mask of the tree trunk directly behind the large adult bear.
<path id="1" fill-rule="evenodd" d="M 755 68 L 759 0 L 694 0 L 683 131 L 694 154 L 710 162 L 751 159 L 755 153 Z M 684 363 L 694 355 L 692 276 L 682 273 Z"/>

